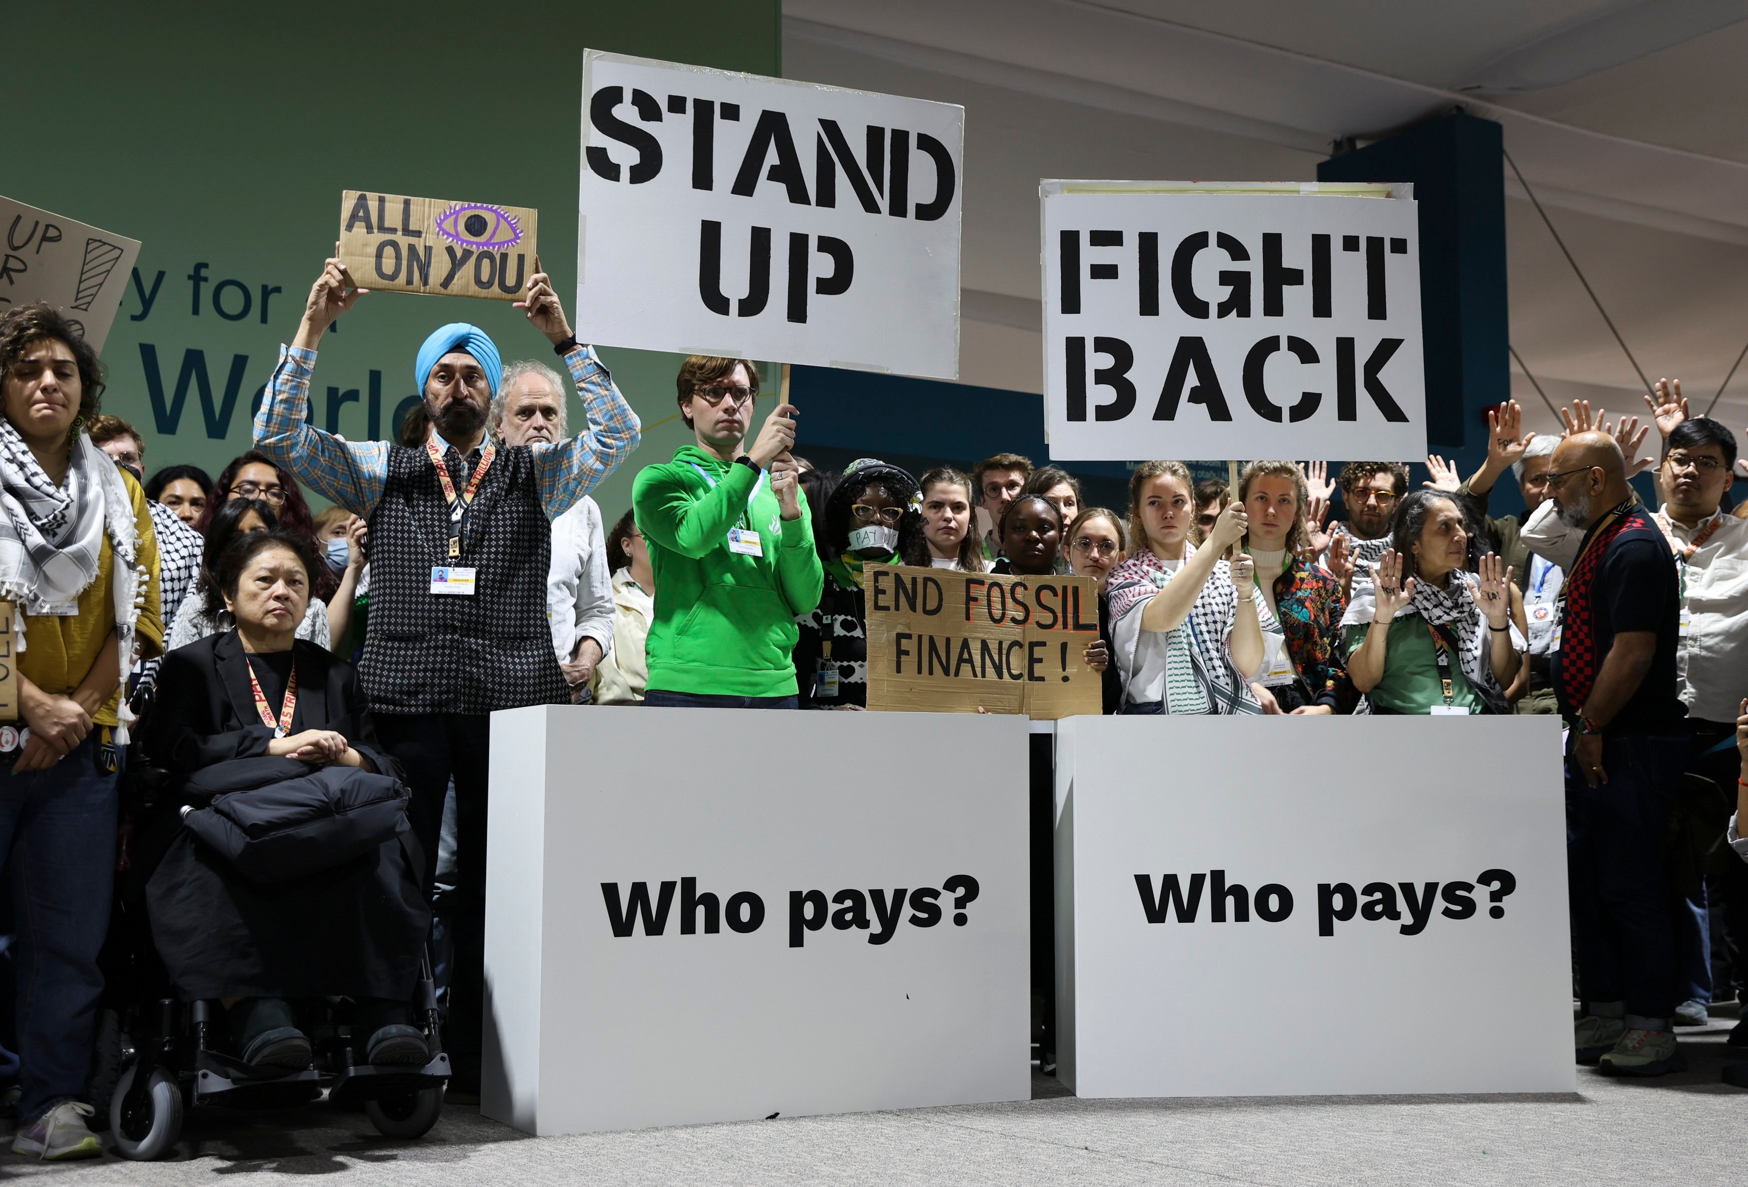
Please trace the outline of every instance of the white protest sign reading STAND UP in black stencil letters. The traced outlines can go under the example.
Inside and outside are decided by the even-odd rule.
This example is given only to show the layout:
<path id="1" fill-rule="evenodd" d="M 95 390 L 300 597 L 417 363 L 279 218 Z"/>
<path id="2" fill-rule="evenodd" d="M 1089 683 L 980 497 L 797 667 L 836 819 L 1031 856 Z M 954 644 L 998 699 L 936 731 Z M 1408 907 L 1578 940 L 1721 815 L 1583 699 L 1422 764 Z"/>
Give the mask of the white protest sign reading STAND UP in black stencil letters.
<path id="1" fill-rule="evenodd" d="M 577 329 L 960 372 L 965 110 L 587 51 Z"/>

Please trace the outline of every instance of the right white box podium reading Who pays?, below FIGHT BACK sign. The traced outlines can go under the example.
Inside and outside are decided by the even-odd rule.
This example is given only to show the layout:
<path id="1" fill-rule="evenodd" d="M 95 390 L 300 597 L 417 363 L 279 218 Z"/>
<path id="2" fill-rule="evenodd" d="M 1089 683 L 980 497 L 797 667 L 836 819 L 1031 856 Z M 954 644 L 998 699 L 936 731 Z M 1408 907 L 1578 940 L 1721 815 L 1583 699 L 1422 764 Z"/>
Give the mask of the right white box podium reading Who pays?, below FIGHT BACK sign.
<path id="1" fill-rule="evenodd" d="M 1559 753 L 1554 717 L 1059 722 L 1063 1082 L 1575 1091 Z"/>

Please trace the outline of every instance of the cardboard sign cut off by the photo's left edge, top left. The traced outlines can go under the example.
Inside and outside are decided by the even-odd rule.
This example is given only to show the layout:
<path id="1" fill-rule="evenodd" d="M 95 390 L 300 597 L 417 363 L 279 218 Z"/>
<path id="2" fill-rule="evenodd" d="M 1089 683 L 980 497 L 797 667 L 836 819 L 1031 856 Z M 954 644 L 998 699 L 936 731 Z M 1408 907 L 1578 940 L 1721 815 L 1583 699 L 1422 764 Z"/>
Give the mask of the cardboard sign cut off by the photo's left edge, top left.
<path id="1" fill-rule="evenodd" d="M 47 301 L 101 353 L 140 257 L 140 241 L 10 198 L 0 198 L 0 227 L 5 227 L 0 313 Z"/>

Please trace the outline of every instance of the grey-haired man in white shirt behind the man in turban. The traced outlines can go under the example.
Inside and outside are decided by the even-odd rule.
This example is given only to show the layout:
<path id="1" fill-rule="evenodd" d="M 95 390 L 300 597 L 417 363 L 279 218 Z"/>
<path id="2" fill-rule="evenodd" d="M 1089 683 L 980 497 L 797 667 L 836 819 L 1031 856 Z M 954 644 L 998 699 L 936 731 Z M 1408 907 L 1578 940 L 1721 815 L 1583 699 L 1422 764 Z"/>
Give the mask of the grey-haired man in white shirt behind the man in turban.
<path id="1" fill-rule="evenodd" d="M 563 441 L 568 432 L 565 381 L 538 362 L 512 362 L 491 404 L 493 434 L 509 446 Z M 607 572 L 607 528 L 600 505 L 584 496 L 552 521 L 547 570 L 547 626 L 572 701 L 589 696 L 589 678 L 614 645 L 614 587 Z"/>

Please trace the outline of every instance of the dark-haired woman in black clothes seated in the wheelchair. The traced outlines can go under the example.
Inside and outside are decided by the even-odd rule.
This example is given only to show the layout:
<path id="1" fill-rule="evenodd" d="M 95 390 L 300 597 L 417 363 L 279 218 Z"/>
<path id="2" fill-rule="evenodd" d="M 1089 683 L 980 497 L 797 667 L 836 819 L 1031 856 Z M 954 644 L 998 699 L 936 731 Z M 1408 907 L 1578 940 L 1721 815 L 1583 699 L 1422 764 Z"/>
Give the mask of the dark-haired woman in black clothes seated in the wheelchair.
<path id="1" fill-rule="evenodd" d="M 185 806 L 147 883 L 152 939 L 184 1000 L 224 1003 L 248 1065 L 308 1068 L 294 1005 L 327 996 L 357 1003 L 365 1063 L 425 1065 L 406 788 L 353 666 L 295 638 L 315 563 L 297 535 L 241 535 L 213 572 L 236 628 L 164 657 L 143 739 Z"/>

